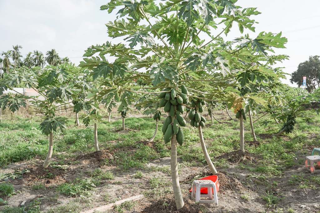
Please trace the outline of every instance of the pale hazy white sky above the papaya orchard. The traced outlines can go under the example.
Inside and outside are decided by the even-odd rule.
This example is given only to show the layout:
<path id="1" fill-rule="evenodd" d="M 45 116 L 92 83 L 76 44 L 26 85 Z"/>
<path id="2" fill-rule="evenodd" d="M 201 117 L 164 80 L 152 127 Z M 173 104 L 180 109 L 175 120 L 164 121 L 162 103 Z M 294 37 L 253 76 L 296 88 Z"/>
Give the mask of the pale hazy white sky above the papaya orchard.
<path id="1" fill-rule="evenodd" d="M 78 65 L 83 60 L 84 50 L 91 45 L 106 41 L 119 43 L 108 37 L 105 24 L 115 19 L 115 14 L 100 11 L 108 0 L 0 0 L 0 52 L 20 45 L 23 57 L 34 50 L 44 54 L 56 49 L 60 57 L 69 57 Z M 251 19 L 256 32 L 245 30 L 254 38 L 260 32 L 282 32 L 288 39 L 286 49 L 276 49 L 275 54 L 290 58 L 277 64 L 291 74 L 299 63 L 309 56 L 320 55 L 320 8 L 319 0 L 308 0 L 303 5 L 298 0 L 238 0 L 243 8 L 256 7 L 261 14 Z M 229 39 L 242 36 L 231 30 Z M 283 83 L 290 86 L 290 75 Z"/>

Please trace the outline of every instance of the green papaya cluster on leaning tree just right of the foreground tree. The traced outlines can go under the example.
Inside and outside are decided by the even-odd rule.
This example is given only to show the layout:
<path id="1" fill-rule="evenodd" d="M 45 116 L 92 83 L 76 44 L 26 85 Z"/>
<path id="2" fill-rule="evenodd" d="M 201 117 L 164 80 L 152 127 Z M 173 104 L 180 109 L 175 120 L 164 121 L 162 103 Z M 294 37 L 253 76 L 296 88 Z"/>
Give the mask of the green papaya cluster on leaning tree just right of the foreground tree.
<path id="1" fill-rule="evenodd" d="M 191 102 L 191 107 L 194 108 L 189 112 L 189 119 L 190 119 L 191 126 L 204 127 L 204 125 L 205 125 L 206 120 L 199 113 L 199 112 L 204 111 L 204 106 L 206 104 L 205 101 L 203 99 L 201 99 L 202 97 L 204 97 L 204 96 L 199 95 L 199 98 L 194 98 L 194 100 L 192 100 L 192 102 Z"/>

